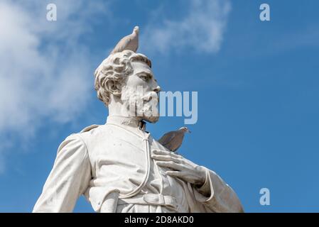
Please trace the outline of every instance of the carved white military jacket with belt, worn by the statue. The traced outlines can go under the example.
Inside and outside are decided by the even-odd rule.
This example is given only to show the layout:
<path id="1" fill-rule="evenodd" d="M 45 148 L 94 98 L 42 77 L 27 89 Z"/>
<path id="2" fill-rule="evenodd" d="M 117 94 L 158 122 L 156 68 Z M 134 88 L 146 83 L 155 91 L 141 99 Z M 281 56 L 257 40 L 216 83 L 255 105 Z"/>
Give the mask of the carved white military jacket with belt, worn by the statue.
<path id="1" fill-rule="evenodd" d="M 108 117 L 68 136 L 33 212 L 72 212 L 85 195 L 97 212 L 241 212 L 237 195 L 205 168 L 200 187 L 165 174 L 151 150 L 167 150 L 138 121 Z"/>

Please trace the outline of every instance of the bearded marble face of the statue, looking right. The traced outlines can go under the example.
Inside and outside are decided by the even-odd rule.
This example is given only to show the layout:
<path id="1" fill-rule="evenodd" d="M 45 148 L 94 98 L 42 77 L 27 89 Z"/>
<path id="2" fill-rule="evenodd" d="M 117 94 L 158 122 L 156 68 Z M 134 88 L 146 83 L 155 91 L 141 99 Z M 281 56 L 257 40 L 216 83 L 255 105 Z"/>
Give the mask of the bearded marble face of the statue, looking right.
<path id="1" fill-rule="evenodd" d="M 130 116 L 148 122 L 158 121 L 158 92 L 161 88 L 150 67 L 144 62 L 131 62 L 134 72 L 126 78 L 121 100 Z"/>

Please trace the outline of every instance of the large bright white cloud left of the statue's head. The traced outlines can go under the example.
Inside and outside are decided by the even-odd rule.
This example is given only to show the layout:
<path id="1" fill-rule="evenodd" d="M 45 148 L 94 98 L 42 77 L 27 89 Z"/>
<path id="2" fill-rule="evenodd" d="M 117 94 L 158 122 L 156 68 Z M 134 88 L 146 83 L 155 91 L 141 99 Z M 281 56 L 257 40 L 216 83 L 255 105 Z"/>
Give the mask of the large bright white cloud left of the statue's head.
<path id="1" fill-rule="evenodd" d="M 58 21 L 49 22 L 48 3 L 0 3 L 1 142 L 7 134 L 33 135 L 45 118 L 71 121 L 90 96 L 92 62 L 80 38 L 106 7 L 102 1 L 55 1 Z M 1 145 L 0 162 L 4 150 Z"/>

